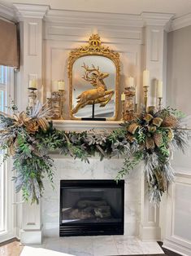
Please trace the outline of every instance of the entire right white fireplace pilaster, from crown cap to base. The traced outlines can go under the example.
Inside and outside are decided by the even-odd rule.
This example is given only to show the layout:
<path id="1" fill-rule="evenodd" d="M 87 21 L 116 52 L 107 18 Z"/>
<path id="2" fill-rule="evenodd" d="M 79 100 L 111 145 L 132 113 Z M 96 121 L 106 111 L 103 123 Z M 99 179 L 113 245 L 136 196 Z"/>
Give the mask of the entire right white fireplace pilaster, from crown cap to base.
<path id="1" fill-rule="evenodd" d="M 166 86 L 166 44 L 165 29 L 171 20 L 172 15 L 161 13 L 146 13 L 141 14 L 144 22 L 142 29 L 143 33 L 143 61 L 142 71 L 150 70 L 150 86 L 148 92 L 148 106 L 157 105 L 156 98 L 156 79 L 163 81 L 165 99 Z M 163 100 L 163 104 L 165 101 Z M 144 173 L 144 170 L 142 170 Z M 160 240 L 161 228 L 159 223 L 160 208 L 150 204 L 148 198 L 148 187 L 145 183 L 145 175 L 142 175 L 141 181 L 141 223 L 140 223 L 140 238 L 143 241 Z"/>

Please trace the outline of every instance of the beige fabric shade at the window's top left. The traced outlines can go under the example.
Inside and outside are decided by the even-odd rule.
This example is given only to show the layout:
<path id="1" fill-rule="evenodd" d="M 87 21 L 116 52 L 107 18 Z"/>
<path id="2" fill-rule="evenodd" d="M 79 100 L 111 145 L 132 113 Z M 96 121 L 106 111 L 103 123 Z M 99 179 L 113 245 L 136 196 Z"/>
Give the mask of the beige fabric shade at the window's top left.
<path id="1" fill-rule="evenodd" d="M 16 24 L 0 20 L 0 65 L 19 68 Z"/>

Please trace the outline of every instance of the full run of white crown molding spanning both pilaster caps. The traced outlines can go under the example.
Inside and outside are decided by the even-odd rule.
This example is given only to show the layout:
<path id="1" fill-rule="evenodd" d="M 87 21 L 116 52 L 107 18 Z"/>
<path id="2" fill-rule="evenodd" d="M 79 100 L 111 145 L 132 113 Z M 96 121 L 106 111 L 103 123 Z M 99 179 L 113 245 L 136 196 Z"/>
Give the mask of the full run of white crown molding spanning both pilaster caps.
<path id="1" fill-rule="evenodd" d="M 68 11 L 54 10 L 47 5 L 34 5 L 14 3 L 16 15 L 19 20 L 23 18 L 45 18 L 46 22 L 64 24 L 96 24 L 120 26 L 121 28 L 138 27 L 145 25 L 166 26 L 173 17 L 173 14 L 142 12 L 140 15 L 105 13 L 96 11 Z"/>

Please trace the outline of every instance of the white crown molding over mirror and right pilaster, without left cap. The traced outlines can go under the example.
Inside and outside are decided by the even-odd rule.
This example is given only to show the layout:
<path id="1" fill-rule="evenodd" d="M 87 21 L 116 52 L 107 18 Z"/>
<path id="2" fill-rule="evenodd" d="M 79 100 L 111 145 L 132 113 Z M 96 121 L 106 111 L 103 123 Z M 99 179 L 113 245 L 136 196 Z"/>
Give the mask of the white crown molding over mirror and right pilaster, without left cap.
<path id="1" fill-rule="evenodd" d="M 104 13 L 93 11 L 50 10 L 45 20 L 54 23 L 121 25 L 122 27 L 138 27 L 156 25 L 167 27 L 174 14 L 142 12 L 140 15 Z"/>

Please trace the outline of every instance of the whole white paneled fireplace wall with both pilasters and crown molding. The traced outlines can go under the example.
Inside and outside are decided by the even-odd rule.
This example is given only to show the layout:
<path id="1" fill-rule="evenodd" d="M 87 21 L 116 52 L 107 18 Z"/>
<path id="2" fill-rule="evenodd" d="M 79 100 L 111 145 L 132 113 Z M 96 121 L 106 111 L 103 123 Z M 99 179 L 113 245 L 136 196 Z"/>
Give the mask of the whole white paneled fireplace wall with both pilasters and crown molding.
<path id="1" fill-rule="evenodd" d="M 20 83 L 17 85 L 20 108 L 26 107 L 28 80 L 32 76 L 37 77 L 38 88 L 41 88 L 41 84 L 44 85 L 44 100 L 46 91 L 51 90 L 52 82 L 63 79 L 66 82 L 64 118 L 68 118 L 68 54 L 75 47 L 87 43 L 89 36 L 96 31 L 101 37 L 102 44 L 119 52 L 120 92 L 124 90 L 124 86 L 127 86 L 127 78 L 135 77 L 139 104 L 141 104 L 143 69 L 150 69 L 151 79 L 163 77 L 163 62 L 166 61 L 163 55 L 165 45 L 163 34 L 171 15 L 156 13 L 120 15 L 89 11 L 63 11 L 51 10 L 47 6 L 19 3 L 15 4 L 15 8 L 21 20 L 21 44 L 24 46 L 21 55 Z M 41 94 L 38 96 L 40 99 Z M 120 113 L 119 109 L 119 118 Z M 68 124 L 68 121 L 67 125 L 74 127 L 72 123 Z M 59 126 L 62 124 L 59 123 Z M 107 129 L 107 122 L 104 128 Z M 63 159 L 60 161 L 64 164 Z M 102 165 L 102 163 L 99 164 Z M 99 179 L 104 179 L 104 172 L 101 173 Z M 158 240 L 160 238 L 159 210 L 150 205 L 148 201 L 144 174 L 139 184 L 141 214 L 137 214 L 136 217 L 137 223 L 140 223 L 136 234 L 139 233 L 142 240 Z M 133 195 L 129 201 L 133 201 Z M 22 211 L 21 241 L 41 243 L 41 213 L 44 210 L 41 211 L 41 205 L 32 208 L 24 204 Z"/>

